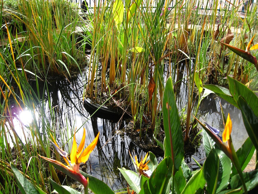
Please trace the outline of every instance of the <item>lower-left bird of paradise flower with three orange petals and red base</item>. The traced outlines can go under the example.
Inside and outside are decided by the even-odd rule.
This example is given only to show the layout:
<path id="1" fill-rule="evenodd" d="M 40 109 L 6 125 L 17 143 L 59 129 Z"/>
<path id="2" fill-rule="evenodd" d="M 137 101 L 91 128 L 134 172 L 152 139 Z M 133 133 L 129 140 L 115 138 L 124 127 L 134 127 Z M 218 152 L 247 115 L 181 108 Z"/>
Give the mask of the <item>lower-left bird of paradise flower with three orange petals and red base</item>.
<path id="1" fill-rule="evenodd" d="M 85 193 L 86 193 L 86 191 L 88 193 L 88 187 L 87 186 L 88 186 L 88 181 L 89 180 L 86 179 L 79 172 L 79 167 L 80 167 L 81 162 L 85 163 L 89 159 L 90 153 L 93 151 L 93 149 L 97 145 L 97 141 L 99 139 L 99 133 L 97 134 L 95 139 L 91 142 L 91 144 L 84 150 L 83 150 L 83 148 L 84 148 L 84 145 L 85 145 L 85 129 L 83 129 L 83 137 L 82 137 L 81 143 L 80 143 L 78 148 L 77 148 L 77 143 L 76 143 L 75 133 L 74 133 L 73 145 L 72 145 L 72 149 L 71 149 L 71 153 L 70 153 L 70 160 L 68 158 L 68 153 L 65 152 L 64 150 L 62 150 L 57 145 L 57 143 L 54 140 L 52 135 L 51 135 L 51 137 L 54 141 L 54 142 L 51 141 L 53 147 L 56 149 L 56 151 L 60 155 L 62 155 L 62 157 L 64 158 L 64 161 L 67 163 L 68 166 L 64 165 L 63 163 L 61 163 L 59 161 L 53 160 L 51 158 L 44 157 L 44 156 L 41 156 L 41 155 L 39 155 L 39 156 L 42 159 L 46 160 L 48 163 L 52 164 L 58 170 L 64 172 L 64 174 L 67 174 L 71 178 L 73 178 L 73 179 L 77 180 L 78 182 L 80 182 L 81 184 L 83 184 Z"/>

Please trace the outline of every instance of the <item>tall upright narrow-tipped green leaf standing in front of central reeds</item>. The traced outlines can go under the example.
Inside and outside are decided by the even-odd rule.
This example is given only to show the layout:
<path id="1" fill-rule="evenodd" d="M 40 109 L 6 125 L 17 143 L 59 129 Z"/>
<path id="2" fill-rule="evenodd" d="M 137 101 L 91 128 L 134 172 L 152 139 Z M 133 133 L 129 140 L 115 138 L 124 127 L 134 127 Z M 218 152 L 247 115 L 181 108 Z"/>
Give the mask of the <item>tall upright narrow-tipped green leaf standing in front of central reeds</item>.
<path id="1" fill-rule="evenodd" d="M 174 170 L 177 172 L 184 159 L 184 142 L 171 77 L 167 79 L 165 86 L 162 112 L 164 131 L 167 137 L 164 140 L 165 157 L 174 158 Z M 170 139 L 170 135 L 172 139 Z M 173 147 L 172 150 L 171 147 Z"/>

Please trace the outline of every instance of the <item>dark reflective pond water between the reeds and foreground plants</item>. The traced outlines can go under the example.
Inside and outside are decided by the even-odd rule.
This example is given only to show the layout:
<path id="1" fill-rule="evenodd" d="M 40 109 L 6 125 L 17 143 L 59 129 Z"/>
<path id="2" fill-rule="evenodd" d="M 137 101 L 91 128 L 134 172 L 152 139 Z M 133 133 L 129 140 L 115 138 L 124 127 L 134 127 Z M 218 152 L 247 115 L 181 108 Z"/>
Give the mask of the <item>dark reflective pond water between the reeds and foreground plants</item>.
<path id="1" fill-rule="evenodd" d="M 40 86 L 42 87 L 42 93 L 40 95 L 44 96 L 44 98 L 39 103 L 38 108 L 36 108 L 36 113 L 40 116 L 40 107 L 44 108 L 44 112 L 47 115 L 45 120 L 48 120 L 56 126 L 57 137 L 59 138 L 57 139 L 57 143 L 63 145 L 62 143 L 65 144 L 67 142 L 65 148 L 68 152 L 75 128 L 78 130 L 76 133 L 77 143 L 81 141 L 83 128 L 86 129 L 85 146 L 89 145 L 97 133 L 100 132 L 97 147 L 91 153 L 87 161 L 87 173 L 103 180 L 112 190 L 126 188 L 127 183 L 117 168 L 125 167 L 134 170 L 129 152 L 134 153 L 132 155 L 137 155 L 138 159 L 141 156 L 144 157 L 146 153 L 136 147 L 125 134 L 125 122 L 112 123 L 101 118 L 90 118 L 90 115 L 83 108 L 85 76 L 86 75 L 83 74 L 71 81 L 62 80 L 48 83 L 44 90 L 44 84 L 42 84 L 42 86 Z M 184 84 L 185 83 L 181 85 L 181 88 L 184 88 Z M 35 84 L 32 83 L 32 86 L 34 85 Z M 47 93 L 50 94 L 49 99 Z M 177 95 L 181 95 L 185 99 L 185 90 L 178 90 Z M 49 109 L 49 103 L 50 107 L 52 107 L 51 109 Z M 179 100 L 177 103 L 179 103 Z M 241 112 L 236 107 L 216 97 L 214 94 L 209 95 L 200 105 L 198 111 L 200 120 L 206 121 L 211 126 L 223 130 L 220 103 L 225 115 L 227 115 L 228 112 L 230 113 L 233 124 L 232 139 L 235 149 L 238 149 L 248 135 L 243 125 Z M 179 104 L 179 109 L 180 107 L 184 107 L 184 105 Z M 55 118 L 54 121 L 50 120 L 50 115 Z M 39 125 L 42 125 L 40 121 Z M 24 137 L 21 133 L 20 136 Z M 185 154 L 185 161 L 193 170 L 196 170 L 198 166 L 191 157 L 195 158 L 200 164 L 203 164 L 206 157 L 202 145 L 196 148 L 196 153 L 193 155 L 189 154 L 187 150 L 185 150 Z M 161 161 L 162 157 L 159 157 L 158 160 Z"/>

